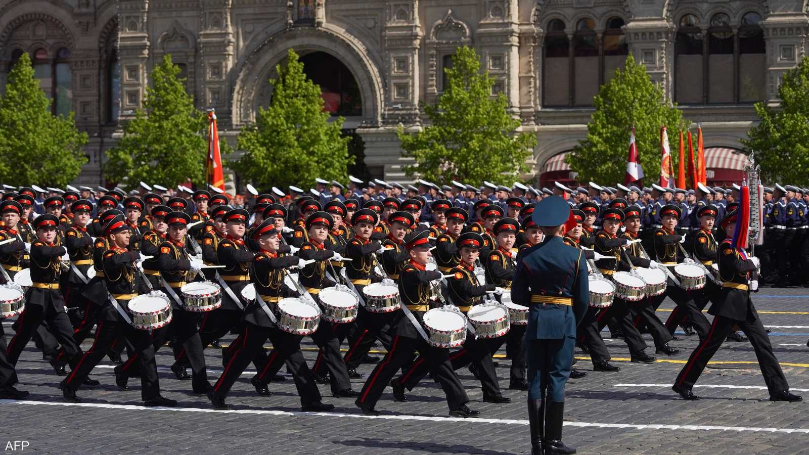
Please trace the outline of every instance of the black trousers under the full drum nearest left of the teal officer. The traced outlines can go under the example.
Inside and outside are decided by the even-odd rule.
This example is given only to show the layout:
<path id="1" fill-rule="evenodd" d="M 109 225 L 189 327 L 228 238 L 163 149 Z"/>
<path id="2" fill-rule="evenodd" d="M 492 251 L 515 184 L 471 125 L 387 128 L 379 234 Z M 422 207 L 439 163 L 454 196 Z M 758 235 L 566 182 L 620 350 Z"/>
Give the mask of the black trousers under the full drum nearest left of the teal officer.
<path id="1" fill-rule="evenodd" d="M 481 378 L 481 389 L 487 395 L 500 395 L 500 384 L 497 372 L 494 371 L 492 355 L 500 349 L 506 341 L 506 335 L 498 338 L 478 338 L 467 332 L 464 347 L 450 353 L 452 369 L 458 370 L 468 364 L 477 365 L 477 374 Z M 413 366 L 404 373 L 400 381 L 408 390 L 414 387 L 430 372 L 430 362 L 423 355 L 419 355 Z"/>

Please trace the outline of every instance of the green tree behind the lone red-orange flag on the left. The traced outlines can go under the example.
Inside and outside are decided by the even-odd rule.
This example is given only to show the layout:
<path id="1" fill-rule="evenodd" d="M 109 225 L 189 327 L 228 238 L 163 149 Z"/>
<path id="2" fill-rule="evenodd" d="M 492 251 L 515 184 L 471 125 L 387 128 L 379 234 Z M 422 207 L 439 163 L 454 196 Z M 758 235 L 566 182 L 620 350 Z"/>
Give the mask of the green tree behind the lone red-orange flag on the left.
<path id="1" fill-rule="evenodd" d="M 116 147 L 107 151 L 108 179 L 129 188 L 139 181 L 171 187 L 186 178 L 205 184 L 208 120 L 194 107 L 179 74 L 171 55 L 163 56 L 151 71 L 144 108 L 124 125 L 124 136 Z M 221 134 L 219 147 L 222 155 L 230 150 Z"/>

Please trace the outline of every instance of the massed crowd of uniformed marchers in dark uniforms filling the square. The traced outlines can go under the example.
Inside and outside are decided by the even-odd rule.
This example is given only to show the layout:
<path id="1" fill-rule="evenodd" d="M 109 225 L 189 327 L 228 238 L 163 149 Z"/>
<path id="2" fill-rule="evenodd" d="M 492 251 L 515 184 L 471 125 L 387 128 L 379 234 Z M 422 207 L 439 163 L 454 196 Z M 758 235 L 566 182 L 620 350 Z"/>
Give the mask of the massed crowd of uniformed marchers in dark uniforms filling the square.
<path id="1" fill-rule="evenodd" d="M 0 245 L 0 279 L 14 283 L 15 274 L 29 269 L 32 284 L 7 347 L 0 336 L 2 398 L 28 395 L 15 389 L 14 366 L 33 340 L 53 371 L 65 376 L 59 387 L 70 402 L 80 401 L 81 387 L 99 384 L 90 373 L 108 356 L 116 364 L 119 389 L 129 390 L 129 379 L 140 377 L 147 406 L 175 406 L 176 402 L 160 395 L 155 364 L 155 351 L 168 344 L 176 379 L 190 380 L 193 393 L 207 395 L 216 409 L 227 409 L 227 393 L 248 364 L 256 367 L 250 382 L 262 396 L 272 394 L 271 382 L 284 379 L 277 373 L 286 364 L 303 410 L 334 407 L 322 402 L 316 385 L 321 383 L 330 386 L 334 397 L 355 398 L 364 413 L 376 415 L 375 406 L 385 389 L 392 388 L 396 401 L 407 401 L 406 392 L 430 373 L 446 393 L 450 415 L 472 417 L 480 412 L 468 406 L 468 395 L 455 371 L 468 367 L 474 373 L 485 402 L 509 402 L 492 359 L 505 345 L 511 359 L 508 389 L 529 391 L 535 452 L 573 453 L 574 449 L 561 444 L 564 388 L 560 394 L 554 384 L 568 376 L 587 376 L 572 368 L 574 345 L 591 355 L 595 372 L 620 369 L 609 362 L 606 334 L 602 334 L 608 326 L 613 338 L 624 339 L 637 363 L 654 362 L 646 354 L 643 333 L 652 335 L 655 351 L 662 355 L 680 354 L 668 344 L 677 339 L 678 327 L 684 334 L 697 334 L 701 346 L 709 347 L 692 355 L 678 377 L 674 389 L 686 399 L 696 398 L 691 387 L 694 375 L 701 372 L 692 364 L 704 368 L 707 353 L 712 355 L 726 338 L 745 341 L 738 333 L 741 330 L 751 338 L 756 353 L 763 353 L 760 362 L 771 398 L 800 399 L 789 393 L 757 315 L 717 310 L 711 314 L 723 319 L 714 317 L 712 326 L 701 312 L 709 302 L 714 303 L 712 312 L 722 308 L 728 298 L 746 299 L 752 308 L 749 293 L 758 285 L 807 284 L 809 191 L 792 185 L 765 188 L 764 245 L 755 251 L 760 264 L 755 257 L 748 260 L 733 252 L 736 261 L 727 270 L 720 252 L 731 254 L 723 240 L 726 226 L 735 223 L 738 185 L 728 189 L 699 185 L 686 191 L 594 182 L 586 188 L 555 182 L 550 189 L 484 182 L 478 188 L 457 181 L 439 187 L 423 180 L 404 186 L 352 176 L 347 187 L 322 179 L 309 191 L 273 187 L 269 193 L 253 193 L 244 206 L 234 206 L 218 189 L 180 187 L 186 191 L 183 194 L 142 184 L 127 196 L 120 189 L 45 191 L 4 186 L 0 242 L 17 241 Z M 566 203 L 559 206 L 558 201 Z M 537 211 L 543 206 L 547 207 L 544 213 Z M 565 219 L 557 223 L 561 216 Z M 553 245 L 540 248 L 552 240 Z M 591 261 L 591 273 L 606 279 L 634 267 L 665 270 L 686 258 L 704 266 L 716 262 L 720 272 L 700 291 L 686 291 L 669 278 L 660 296 L 639 302 L 616 297 L 607 308 L 578 308 L 587 300 L 582 296 L 586 279 L 583 285 L 578 278 L 542 284 L 544 275 L 537 272 L 546 268 L 545 276 L 553 276 L 559 273 L 554 267 L 569 267 L 554 262 L 557 249 L 574 257 L 577 272 L 578 266 Z M 543 262 L 552 251 L 557 259 Z M 298 272 L 298 283 L 292 287 L 285 280 L 290 269 Z M 723 271 L 732 277 L 728 279 Z M 533 281 L 526 282 L 529 275 Z M 732 284 L 736 279 L 739 283 Z M 221 284 L 222 305 L 207 313 L 187 311 L 180 289 L 194 281 Z M 256 289 L 252 301 L 241 293 L 248 283 Z M 273 307 L 290 296 L 308 295 L 317 301 L 322 290 L 332 287 L 362 296 L 371 283 L 396 285 L 403 311 L 373 313 L 361 305 L 356 321 L 321 322 L 307 335 L 319 347 L 311 367 L 301 352 L 304 335 L 279 329 L 265 306 Z M 741 293 L 728 296 L 729 287 Z M 144 294 L 171 296 L 167 299 L 173 313 L 170 324 L 155 330 L 129 324 L 127 304 Z M 468 337 L 457 350 L 431 346 L 419 334 L 424 313 L 437 301 L 467 313 L 486 296 L 500 301 L 504 294 L 531 308 L 528 325 L 512 325 L 499 338 Z M 666 296 L 676 309 L 663 322 L 655 310 Z M 537 323 L 539 308 L 565 306 L 575 314 L 543 313 L 551 319 L 561 317 L 560 325 Z M 719 319 L 722 327 L 716 330 Z M 237 338 L 222 350 L 225 370 L 211 382 L 203 351 L 218 347 L 218 339 L 231 332 Z M 91 347 L 83 351 L 83 341 L 93 333 Z M 557 338 L 570 342 L 549 347 L 547 340 Z M 268 340 L 269 351 L 264 347 Z M 375 342 L 388 352 L 381 361 L 368 355 Z M 345 355 L 341 346 L 348 348 Z M 556 351 L 551 355 L 546 352 L 549 349 Z M 548 356 L 539 367 L 532 364 L 532 351 Z M 560 357 L 557 351 L 566 354 Z M 354 390 L 349 380 L 362 378 L 357 368 L 363 362 L 379 363 L 362 390 Z M 555 372 L 550 378 L 543 373 L 549 368 Z"/>

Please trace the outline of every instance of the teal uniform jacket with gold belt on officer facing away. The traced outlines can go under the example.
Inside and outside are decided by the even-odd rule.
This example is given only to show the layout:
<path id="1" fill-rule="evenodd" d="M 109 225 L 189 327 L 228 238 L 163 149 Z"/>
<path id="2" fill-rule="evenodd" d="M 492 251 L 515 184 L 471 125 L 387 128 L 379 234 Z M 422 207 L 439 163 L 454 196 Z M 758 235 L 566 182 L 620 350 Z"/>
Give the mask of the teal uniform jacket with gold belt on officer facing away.
<path id="1" fill-rule="evenodd" d="M 570 304 L 532 302 L 532 296 L 534 300 L 561 299 Z M 590 304 L 582 250 L 565 245 L 557 236 L 521 250 L 511 300 L 530 308 L 526 340 L 575 338 L 576 326 Z"/>

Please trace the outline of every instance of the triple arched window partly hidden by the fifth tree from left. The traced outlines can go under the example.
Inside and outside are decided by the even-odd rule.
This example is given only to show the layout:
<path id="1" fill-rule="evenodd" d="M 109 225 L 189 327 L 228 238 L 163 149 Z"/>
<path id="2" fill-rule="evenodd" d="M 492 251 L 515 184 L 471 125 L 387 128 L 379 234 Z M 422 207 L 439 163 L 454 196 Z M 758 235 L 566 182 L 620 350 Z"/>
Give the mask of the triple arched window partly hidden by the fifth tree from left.
<path id="1" fill-rule="evenodd" d="M 544 38 L 543 105 L 591 106 L 599 87 L 612 79 L 629 54 L 624 19 L 607 20 L 604 33 L 595 32 L 595 21 L 579 19 L 570 40 L 565 23 L 553 19 Z"/>

